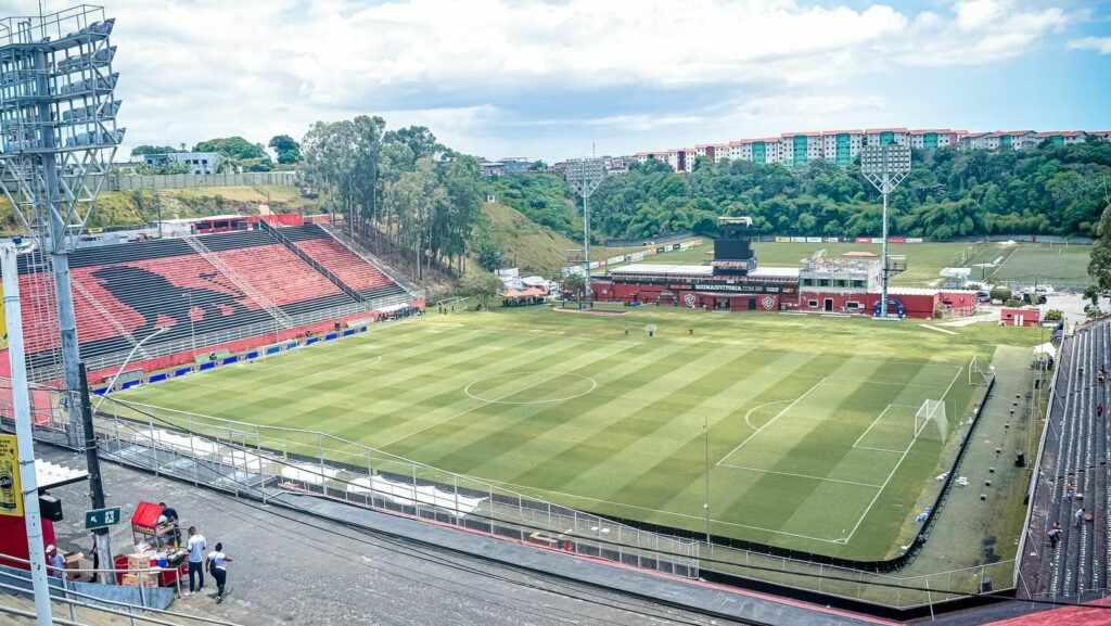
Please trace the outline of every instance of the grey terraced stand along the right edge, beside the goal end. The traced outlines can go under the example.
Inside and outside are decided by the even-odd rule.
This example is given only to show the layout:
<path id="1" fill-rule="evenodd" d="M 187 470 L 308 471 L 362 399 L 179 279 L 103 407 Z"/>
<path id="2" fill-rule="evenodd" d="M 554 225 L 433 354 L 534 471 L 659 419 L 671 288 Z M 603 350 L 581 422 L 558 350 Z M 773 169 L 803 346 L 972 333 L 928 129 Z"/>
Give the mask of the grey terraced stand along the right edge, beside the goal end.
<path id="1" fill-rule="evenodd" d="M 1108 437 L 1108 382 L 1099 371 L 1109 365 L 1111 322 L 1080 329 L 1064 342 L 1058 367 L 1053 413 L 1047 425 L 1034 509 L 1044 511 L 1034 541 L 1037 558 L 1023 567 L 1033 596 L 1077 596 L 1105 589 L 1111 573 L 1111 446 Z M 1102 413 L 1102 415 L 1101 415 Z M 1041 487 L 1047 487 L 1041 489 Z M 1050 534 L 1059 525 L 1054 540 Z M 1032 578 L 1032 579 L 1031 579 Z"/>

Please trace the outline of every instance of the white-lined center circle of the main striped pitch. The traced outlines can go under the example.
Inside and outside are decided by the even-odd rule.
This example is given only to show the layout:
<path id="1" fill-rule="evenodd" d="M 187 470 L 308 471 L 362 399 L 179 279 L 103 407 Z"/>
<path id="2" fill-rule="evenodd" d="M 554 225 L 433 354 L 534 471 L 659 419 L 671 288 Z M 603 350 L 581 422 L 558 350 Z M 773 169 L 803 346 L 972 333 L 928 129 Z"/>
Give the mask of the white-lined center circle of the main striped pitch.
<path id="1" fill-rule="evenodd" d="M 483 403 L 541 405 L 562 403 L 594 390 L 593 378 L 559 371 L 511 371 L 496 374 L 468 385 L 463 393 Z"/>

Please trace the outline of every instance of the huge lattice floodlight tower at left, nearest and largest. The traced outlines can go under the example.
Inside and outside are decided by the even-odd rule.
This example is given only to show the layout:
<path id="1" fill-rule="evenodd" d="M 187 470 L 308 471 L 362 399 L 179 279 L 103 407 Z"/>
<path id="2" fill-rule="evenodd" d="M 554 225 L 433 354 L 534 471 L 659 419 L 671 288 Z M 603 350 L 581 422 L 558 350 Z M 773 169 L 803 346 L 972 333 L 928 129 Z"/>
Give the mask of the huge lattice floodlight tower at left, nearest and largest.
<path id="1" fill-rule="evenodd" d="M 33 292 L 24 295 L 31 304 L 27 351 L 38 352 L 29 359 L 30 377 L 64 375 L 74 446 L 82 420 L 69 252 L 123 139 L 109 40 L 114 22 L 89 4 L 0 19 L 0 190 L 34 244 L 20 264 L 33 277 Z"/>

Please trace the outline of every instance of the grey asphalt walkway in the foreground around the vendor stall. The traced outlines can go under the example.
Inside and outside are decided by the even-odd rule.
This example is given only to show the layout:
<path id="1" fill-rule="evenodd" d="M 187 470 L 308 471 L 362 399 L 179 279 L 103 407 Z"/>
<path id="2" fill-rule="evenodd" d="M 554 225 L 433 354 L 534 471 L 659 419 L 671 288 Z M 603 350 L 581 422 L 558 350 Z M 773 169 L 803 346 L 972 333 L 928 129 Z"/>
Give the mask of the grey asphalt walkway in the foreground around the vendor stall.
<path id="1" fill-rule="evenodd" d="M 38 456 L 83 467 L 83 456 L 39 445 Z M 111 506 L 129 519 L 140 500 L 164 500 L 209 546 L 223 543 L 230 593 L 216 605 L 214 582 L 177 600 L 171 610 L 243 625 L 292 624 L 733 624 L 672 609 L 592 586 L 536 576 L 362 534 L 281 508 L 239 500 L 177 480 L 106 465 Z M 88 554 L 83 511 L 88 484 L 53 489 L 66 520 L 56 525 L 63 549 Z M 113 553 L 132 543 L 127 524 L 113 528 Z M 86 566 L 90 566 L 86 564 Z"/>

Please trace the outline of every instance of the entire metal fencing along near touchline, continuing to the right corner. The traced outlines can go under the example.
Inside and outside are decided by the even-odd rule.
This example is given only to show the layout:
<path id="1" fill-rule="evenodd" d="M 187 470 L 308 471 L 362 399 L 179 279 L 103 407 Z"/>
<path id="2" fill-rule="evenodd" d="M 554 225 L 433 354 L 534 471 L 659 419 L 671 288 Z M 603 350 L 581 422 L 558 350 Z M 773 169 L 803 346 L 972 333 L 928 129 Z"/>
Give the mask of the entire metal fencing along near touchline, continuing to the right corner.
<path id="1" fill-rule="evenodd" d="M 106 406 L 109 406 L 106 404 Z M 710 572 L 895 608 L 981 593 L 1013 559 L 897 576 L 650 531 L 438 469 L 327 433 L 112 401 L 98 437 L 109 459 L 263 500 L 313 494 L 522 543 L 681 576 Z M 190 460 L 191 463 L 182 463 Z"/>

